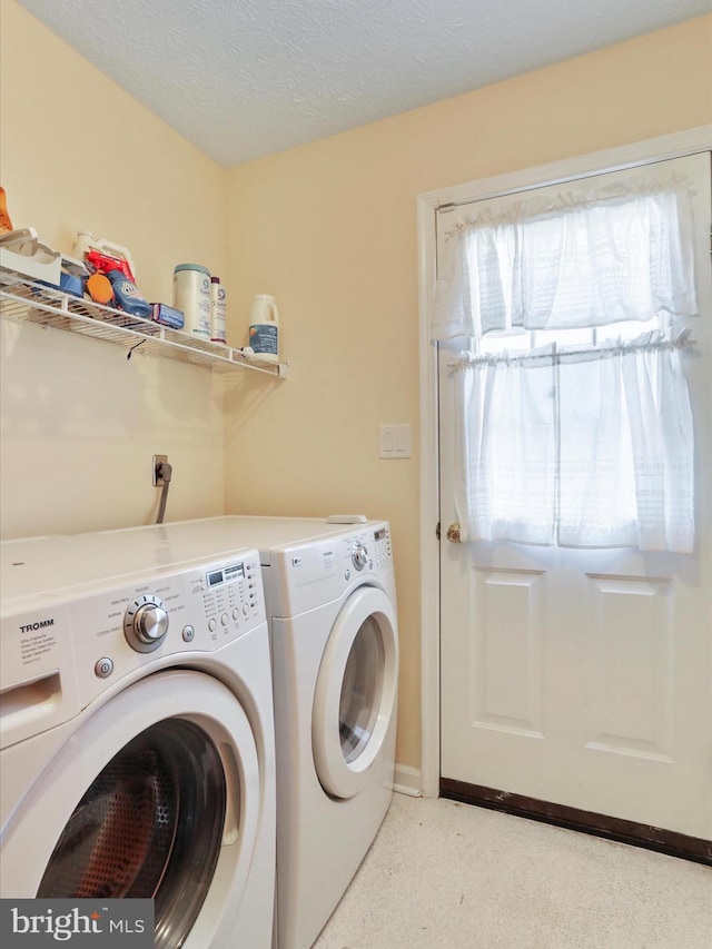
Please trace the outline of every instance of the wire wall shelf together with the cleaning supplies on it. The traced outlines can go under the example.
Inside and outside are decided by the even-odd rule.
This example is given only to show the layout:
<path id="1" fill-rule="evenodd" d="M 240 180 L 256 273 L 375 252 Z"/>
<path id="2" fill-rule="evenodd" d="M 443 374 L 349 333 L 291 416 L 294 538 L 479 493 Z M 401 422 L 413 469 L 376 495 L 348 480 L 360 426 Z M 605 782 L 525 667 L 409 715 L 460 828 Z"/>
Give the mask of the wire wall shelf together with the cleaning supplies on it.
<path id="1" fill-rule="evenodd" d="M 158 340 L 172 347 L 174 352 L 165 355 L 185 352 L 182 358 L 204 364 L 207 359 L 212 368 L 222 368 L 227 363 L 249 365 L 278 377 L 286 375 L 287 364 L 279 363 L 279 317 L 274 297 L 267 294 L 255 297 L 248 345 L 231 348 L 226 334 L 226 289 L 208 267 L 176 265 L 171 303 L 148 300 L 139 289 L 128 248 L 82 229 L 77 234 L 71 256 L 63 254 L 38 236 L 33 227 L 13 228 L 1 187 L 0 270 L 3 316 L 103 339 L 110 338 L 107 328 L 110 325 L 117 335 L 112 342 L 126 343 L 130 352 L 137 345 L 147 352 L 150 338 L 151 344 Z M 42 287 L 57 294 L 43 294 Z M 103 327 L 95 332 L 91 320 Z M 150 329 L 151 325 L 156 328 Z M 132 343 L 127 334 L 147 338 Z"/>

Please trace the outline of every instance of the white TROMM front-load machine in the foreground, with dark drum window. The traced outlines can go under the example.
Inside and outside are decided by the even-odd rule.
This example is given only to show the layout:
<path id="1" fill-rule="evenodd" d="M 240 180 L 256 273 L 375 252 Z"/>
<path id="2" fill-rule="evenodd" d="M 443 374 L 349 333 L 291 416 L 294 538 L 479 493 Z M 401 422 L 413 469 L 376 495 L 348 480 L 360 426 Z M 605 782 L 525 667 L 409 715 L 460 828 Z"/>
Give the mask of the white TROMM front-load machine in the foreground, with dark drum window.
<path id="1" fill-rule="evenodd" d="M 268 949 L 259 557 L 155 532 L 0 545 L 0 896 L 152 897 L 161 949 Z"/>

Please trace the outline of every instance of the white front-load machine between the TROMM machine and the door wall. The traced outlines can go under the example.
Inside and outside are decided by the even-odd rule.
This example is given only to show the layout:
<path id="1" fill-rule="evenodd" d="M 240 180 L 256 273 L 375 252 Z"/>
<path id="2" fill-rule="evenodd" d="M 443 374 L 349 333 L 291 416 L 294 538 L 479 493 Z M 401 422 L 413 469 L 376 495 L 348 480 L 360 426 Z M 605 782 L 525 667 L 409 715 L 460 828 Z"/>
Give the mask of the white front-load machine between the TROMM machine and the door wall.
<path id="1" fill-rule="evenodd" d="M 392 798 L 398 633 L 389 525 L 228 516 L 161 528 L 177 546 L 259 550 L 277 745 L 275 945 L 308 949 Z"/>

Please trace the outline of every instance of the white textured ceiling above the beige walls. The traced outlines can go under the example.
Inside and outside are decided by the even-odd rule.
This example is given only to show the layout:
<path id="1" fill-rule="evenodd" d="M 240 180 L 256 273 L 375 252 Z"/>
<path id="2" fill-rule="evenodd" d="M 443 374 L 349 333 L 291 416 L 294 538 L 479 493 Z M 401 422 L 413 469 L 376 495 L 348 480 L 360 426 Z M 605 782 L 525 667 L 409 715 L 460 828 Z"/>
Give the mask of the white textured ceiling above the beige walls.
<path id="1" fill-rule="evenodd" d="M 710 0 L 19 2 L 224 166 L 711 9 Z"/>

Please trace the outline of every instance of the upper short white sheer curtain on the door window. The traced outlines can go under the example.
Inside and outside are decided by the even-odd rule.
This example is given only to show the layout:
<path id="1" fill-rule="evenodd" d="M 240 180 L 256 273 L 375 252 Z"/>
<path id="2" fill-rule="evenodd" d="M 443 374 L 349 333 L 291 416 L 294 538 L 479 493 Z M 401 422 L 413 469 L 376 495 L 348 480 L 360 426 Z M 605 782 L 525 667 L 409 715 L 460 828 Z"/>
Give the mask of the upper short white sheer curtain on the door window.
<path id="1" fill-rule="evenodd" d="M 525 198 L 452 229 L 438 260 L 434 339 L 604 326 L 696 313 L 685 181 L 640 177 Z"/>

